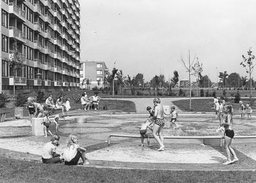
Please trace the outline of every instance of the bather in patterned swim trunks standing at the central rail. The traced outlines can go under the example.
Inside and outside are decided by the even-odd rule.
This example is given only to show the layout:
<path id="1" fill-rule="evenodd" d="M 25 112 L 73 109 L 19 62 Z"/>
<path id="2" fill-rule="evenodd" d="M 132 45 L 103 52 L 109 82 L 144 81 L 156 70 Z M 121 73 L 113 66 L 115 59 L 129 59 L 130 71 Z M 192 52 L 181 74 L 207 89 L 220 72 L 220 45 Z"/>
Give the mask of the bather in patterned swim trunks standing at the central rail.
<path id="1" fill-rule="evenodd" d="M 155 125 L 153 129 L 153 135 L 156 141 L 159 143 L 160 148 L 157 149 L 157 151 L 164 151 L 164 135 L 163 135 L 163 129 L 165 125 L 164 120 L 164 107 L 160 104 L 159 98 L 154 98 L 154 106 L 155 106 L 155 112 L 154 116 L 152 117 L 153 120 L 155 120 Z M 157 135 L 159 134 L 159 136 Z"/>

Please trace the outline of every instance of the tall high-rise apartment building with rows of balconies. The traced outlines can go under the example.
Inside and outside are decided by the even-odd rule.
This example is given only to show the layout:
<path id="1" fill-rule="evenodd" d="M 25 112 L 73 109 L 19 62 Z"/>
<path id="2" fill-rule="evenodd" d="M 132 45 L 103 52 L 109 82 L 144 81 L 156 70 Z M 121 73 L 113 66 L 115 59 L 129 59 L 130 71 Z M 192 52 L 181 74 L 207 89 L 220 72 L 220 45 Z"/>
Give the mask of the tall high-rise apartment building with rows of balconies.
<path id="1" fill-rule="evenodd" d="M 2 0 L 0 92 L 80 88 L 78 0 Z M 13 43 L 24 62 L 14 76 Z"/>

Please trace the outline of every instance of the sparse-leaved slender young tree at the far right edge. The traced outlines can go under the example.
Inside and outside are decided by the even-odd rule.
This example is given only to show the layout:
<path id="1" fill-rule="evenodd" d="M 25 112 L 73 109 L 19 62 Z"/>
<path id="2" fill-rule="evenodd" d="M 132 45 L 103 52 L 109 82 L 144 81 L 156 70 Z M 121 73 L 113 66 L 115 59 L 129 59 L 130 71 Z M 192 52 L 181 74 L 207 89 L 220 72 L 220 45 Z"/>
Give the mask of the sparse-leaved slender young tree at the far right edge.
<path id="1" fill-rule="evenodd" d="M 246 59 L 246 57 L 244 57 L 244 55 L 242 56 L 244 61 L 240 63 L 240 65 L 243 65 L 243 67 L 246 69 L 246 73 L 249 73 L 249 81 L 250 81 L 250 98 L 252 98 L 252 81 L 251 81 L 251 75 L 252 72 L 254 71 L 254 66 L 256 63 L 253 63 L 255 56 L 252 55 L 252 51 L 249 49 L 249 51 L 247 51 L 248 54 L 248 59 Z M 249 68 L 246 68 L 246 66 Z"/>

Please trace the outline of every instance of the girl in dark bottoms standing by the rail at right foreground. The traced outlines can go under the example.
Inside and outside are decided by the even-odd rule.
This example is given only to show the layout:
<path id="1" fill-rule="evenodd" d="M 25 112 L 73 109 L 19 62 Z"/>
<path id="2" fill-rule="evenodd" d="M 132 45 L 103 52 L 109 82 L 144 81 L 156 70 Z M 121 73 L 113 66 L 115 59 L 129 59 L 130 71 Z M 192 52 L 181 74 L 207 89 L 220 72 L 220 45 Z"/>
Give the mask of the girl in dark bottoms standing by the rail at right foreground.
<path id="1" fill-rule="evenodd" d="M 223 165 L 229 165 L 233 162 L 238 161 L 238 157 L 236 156 L 236 153 L 234 149 L 230 146 L 232 143 L 232 138 L 235 135 L 235 132 L 232 129 L 233 125 L 233 113 L 232 113 L 232 106 L 228 105 L 227 109 L 225 110 L 225 113 L 227 113 L 227 117 L 225 119 L 225 123 L 220 123 L 220 126 L 225 127 L 225 150 L 227 153 L 227 162 L 222 163 Z M 234 159 L 231 160 L 230 154 L 233 155 Z"/>

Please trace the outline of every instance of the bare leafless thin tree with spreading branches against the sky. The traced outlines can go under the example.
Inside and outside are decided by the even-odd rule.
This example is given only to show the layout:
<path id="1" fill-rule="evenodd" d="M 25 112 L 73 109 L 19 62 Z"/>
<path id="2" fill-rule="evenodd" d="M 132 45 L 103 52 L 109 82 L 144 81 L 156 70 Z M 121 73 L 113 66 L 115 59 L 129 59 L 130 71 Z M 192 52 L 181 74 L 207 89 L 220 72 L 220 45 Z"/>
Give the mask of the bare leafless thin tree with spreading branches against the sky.
<path id="1" fill-rule="evenodd" d="M 184 59 L 183 56 L 181 56 L 181 59 L 178 60 L 179 63 L 187 70 L 187 73 L 189 73 L 189 110 L 191 110 L 191 72 L 192 72 L 192 65 L 195 61 L 195 57 L 192 62 L 190 62 L 190 51 L 189 55 L 187 56 L 187 60 Z"/>

